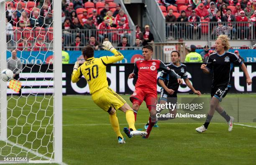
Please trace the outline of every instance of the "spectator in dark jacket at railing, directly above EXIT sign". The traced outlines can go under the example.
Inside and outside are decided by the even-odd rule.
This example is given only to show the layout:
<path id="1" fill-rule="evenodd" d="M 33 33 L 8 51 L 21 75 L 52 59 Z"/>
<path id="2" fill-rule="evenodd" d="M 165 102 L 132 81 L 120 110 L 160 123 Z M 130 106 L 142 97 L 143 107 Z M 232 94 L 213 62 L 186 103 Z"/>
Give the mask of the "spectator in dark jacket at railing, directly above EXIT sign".
<path id="1" fill-rule="evenodd" d="M 175 23 L 170 23 L 170 22 L 176 22 L 176 17 L 173 15 L 173 9 L 169 9 L 169 13 L 165 16 L 165 21 L 166 21 L 166 35 L 167 37 L 171 37 L 171 32 L 172 32 L 172 37 L 177 40 L 178 37 L 178 27 L 175 25 Z"/>

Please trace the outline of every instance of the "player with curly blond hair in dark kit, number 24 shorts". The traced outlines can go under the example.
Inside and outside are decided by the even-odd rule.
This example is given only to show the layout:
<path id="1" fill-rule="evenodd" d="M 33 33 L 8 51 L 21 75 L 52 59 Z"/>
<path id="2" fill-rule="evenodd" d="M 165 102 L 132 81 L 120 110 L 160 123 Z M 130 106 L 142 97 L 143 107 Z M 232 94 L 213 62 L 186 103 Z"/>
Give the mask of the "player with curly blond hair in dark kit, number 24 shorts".
<path id="1" fill-rule="evenodd" d="M 252 84 L 251 78 L 248 74 L 245 64 L 235 53 L 228 51 L 230 48 L 228 43 L 228 36 L 220 35 L 215 41 L 215 53 L 212 53 L 207 61 L 207 65 L 202 64 L 201 69 L 205 74 L 213 72 L 210 111 L 207 114 L 205 124 L 196 128 L 197 132 L 205 132 L 210 124 L 215 110 L 228 122 L 228 131 L 233 129 L 234 117 L 230 117 L 223 107 L 220 107 L 221 100 L 226 96 L 230 89 L 230 77 L 232 77 L 233 64 L 240 65 L 243 73 L 246 76 L 246 83 Z"/>

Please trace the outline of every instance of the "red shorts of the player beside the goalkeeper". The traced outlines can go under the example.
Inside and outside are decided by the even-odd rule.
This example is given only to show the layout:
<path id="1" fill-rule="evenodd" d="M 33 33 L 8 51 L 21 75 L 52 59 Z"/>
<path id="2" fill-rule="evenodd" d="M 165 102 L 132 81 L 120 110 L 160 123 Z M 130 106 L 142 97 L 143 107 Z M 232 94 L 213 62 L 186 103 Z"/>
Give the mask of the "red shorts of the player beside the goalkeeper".
<path id="1" fill-rule="evenodd" d="M 135 88 L 133 94 L 130 96 L 130 100 L 133 104 L 137 103 L 139 105 L 141 105 L 144 100 L 148 109 L 155 108 L 157 101 L 157 92 L 148 90 L 148 88 L 137 87 Z"/>

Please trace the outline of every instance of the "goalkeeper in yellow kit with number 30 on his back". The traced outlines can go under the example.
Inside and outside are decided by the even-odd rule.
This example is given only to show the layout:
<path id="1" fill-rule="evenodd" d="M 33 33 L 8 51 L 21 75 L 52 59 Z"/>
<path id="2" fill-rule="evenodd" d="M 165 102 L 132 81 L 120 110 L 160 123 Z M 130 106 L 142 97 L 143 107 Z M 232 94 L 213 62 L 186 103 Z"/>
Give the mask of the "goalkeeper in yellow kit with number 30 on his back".
<path id="1" fill-rule="evenodd" d="M 121 96 L 108 87 L 106 66 L 110 63 L 121 61 L 123 54 L 117 51 L 109 41 L 104 41 L 102 46 L 105 50 L 111 51 L 114 56 L 94 58 L 94 49 L 91 46 L 84 47 L 82 49 L 82 55 L 84 56 L 85 62 L 81 66 L 79 66 L 78 61 L 75 63 L 71 76 L 72 82 L 76 83 L 84 75 L 89 85 L 93 102 L 109 113 L 110 123 L 118 137 L 118 143 L 125 143 L 125 141 L 119 129 L 118 118 L 116 116 L 117 109 L 125 113 L 131 136 L 146 136 L 147 132 L 138 131 L 134 126 L 133 109 Z"/>

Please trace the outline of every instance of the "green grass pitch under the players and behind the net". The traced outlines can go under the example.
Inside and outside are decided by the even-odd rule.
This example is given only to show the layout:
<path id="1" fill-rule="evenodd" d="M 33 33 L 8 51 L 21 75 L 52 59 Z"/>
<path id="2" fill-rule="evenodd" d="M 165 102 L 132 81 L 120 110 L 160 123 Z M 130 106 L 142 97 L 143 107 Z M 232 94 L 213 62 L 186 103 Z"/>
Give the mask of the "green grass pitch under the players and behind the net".
<path id="1" fill-rule="evenodd" d="M 130 95 L 121 96 L 131 105 Z M 184 99 L 197 96 L 179 94 L 178 97 Z M 17 98 L 8 96 L 8 140 L 51 157 L 53 98 Z M 202 98 L 210 101 L 207 94 Z M 148 139 L 129 139 L 123 134 L 126 144 L 119 145 L 110 126 L 108 113 L 98 108 L 91 96 L 63 96 L 63 162 L 70 165 L 252 165 L 256 162 L 256 122 L 253 122 L 256 118 L 255 99 L 255 94 L 228 94 L 221 103 L 228 114 L 235 117 L 235 122 L 239 118 L 241 124 L 254 127 L 234 125 L 233 131 L 228 132 L 225 120 L 215 113 L 208 130 L 202 134 L 197 133 L 195 128 L 202 125 L 204 119 L 173 119 L 159 122 L 159 128 L 154 127 Z M 207 102 L 205 104 L 209 104 Z M 204 112 L 207 111 L 205 109 Z M 122 130 L 128 126 L 125 114 L 118 111 L 117 115 Z M 137 129 L 143 129 L 148 115 L 143 103 L 137 115 Z M 7 155 L 11 150 L 9 156 L 28 156 L 33 160 L 38 158 L 31 153 L 26 155 L 25 150 L 18 147 L 10 144 L 6 146 L 5 142 L 0 142 L 0 148 L 2 155 Z"/>

